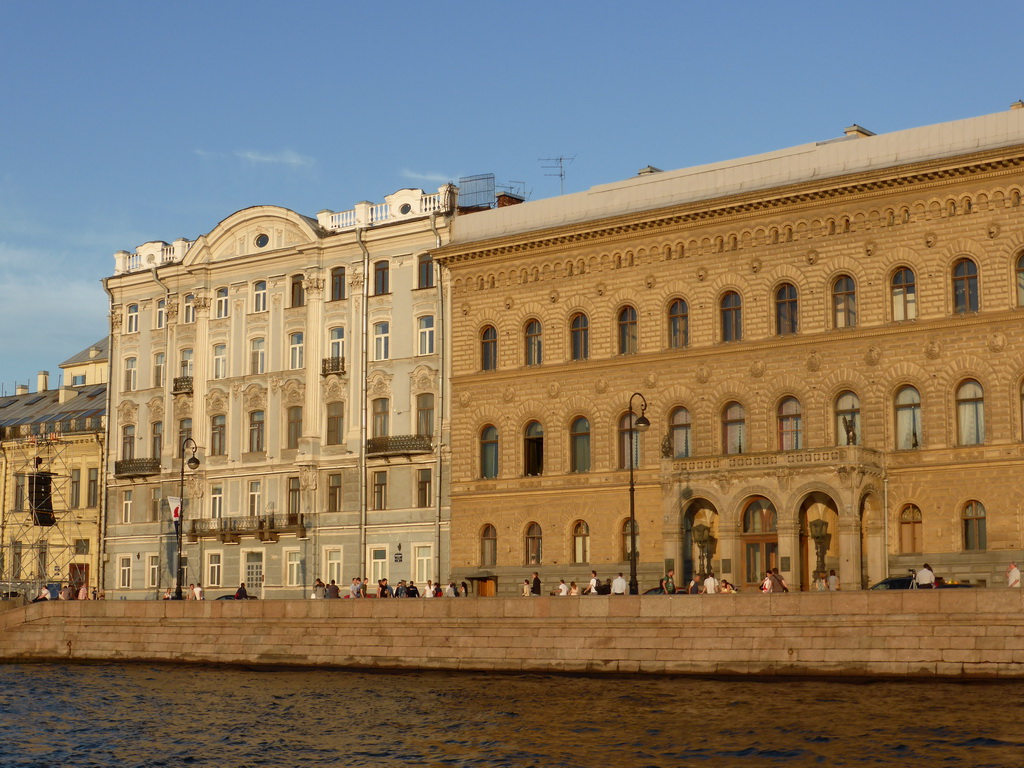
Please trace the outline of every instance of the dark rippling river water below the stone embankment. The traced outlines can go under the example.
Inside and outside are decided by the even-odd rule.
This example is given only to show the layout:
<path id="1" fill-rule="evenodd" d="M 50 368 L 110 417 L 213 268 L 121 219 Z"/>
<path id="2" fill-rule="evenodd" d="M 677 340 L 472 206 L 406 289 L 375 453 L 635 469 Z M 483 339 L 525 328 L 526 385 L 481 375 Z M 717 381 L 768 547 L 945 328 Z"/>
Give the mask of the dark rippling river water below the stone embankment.
<path id="1" fill-rule="evenodd" d="M 1018 766 L 1017 683 L 0 666 L 2 766 Z"/>

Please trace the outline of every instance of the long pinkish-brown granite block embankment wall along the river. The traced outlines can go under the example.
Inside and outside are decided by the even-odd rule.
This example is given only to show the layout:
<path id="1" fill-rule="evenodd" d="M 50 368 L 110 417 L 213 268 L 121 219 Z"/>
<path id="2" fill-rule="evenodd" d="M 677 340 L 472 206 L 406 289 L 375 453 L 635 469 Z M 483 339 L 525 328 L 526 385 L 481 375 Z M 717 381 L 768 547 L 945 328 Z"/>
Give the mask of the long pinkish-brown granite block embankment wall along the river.
<path id="1" fill-rule="evenodd" d="M 1024 677 L 1021 590 L 49 602 L 0 662 L 671 675 Z"/>

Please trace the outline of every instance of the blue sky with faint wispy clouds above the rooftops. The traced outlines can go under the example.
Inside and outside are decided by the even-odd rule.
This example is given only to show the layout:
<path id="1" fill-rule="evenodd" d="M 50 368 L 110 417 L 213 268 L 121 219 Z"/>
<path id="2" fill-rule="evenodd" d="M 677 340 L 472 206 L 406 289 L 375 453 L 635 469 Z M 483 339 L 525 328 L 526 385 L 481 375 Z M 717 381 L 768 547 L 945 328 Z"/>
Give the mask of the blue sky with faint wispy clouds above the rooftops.
<path id="1" fill-rule="evenodd" d="M 493 172 L 559 193 L 1024 98 L 1016 2 L 0 3 L 0 387 L 113 254 Z M 51 381 L 53 378 L 51 377 Z"/>

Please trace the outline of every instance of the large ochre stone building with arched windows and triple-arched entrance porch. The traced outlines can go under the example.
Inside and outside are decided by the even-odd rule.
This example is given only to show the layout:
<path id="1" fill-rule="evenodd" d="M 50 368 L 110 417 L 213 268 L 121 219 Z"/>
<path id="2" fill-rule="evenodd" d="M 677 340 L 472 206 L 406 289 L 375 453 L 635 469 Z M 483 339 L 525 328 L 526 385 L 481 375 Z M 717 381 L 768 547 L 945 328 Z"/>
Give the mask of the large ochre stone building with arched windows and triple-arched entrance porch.
<path id="1" fill-rule="evenodd" d="M 709 568 L 754 589 L 767 567 L 860 589 L 926 561 L 1005 584 L 1021 106 L 458 217 L 435 253 L 456 577 L 628 573 L 632 435 L 641 590 Z"/>

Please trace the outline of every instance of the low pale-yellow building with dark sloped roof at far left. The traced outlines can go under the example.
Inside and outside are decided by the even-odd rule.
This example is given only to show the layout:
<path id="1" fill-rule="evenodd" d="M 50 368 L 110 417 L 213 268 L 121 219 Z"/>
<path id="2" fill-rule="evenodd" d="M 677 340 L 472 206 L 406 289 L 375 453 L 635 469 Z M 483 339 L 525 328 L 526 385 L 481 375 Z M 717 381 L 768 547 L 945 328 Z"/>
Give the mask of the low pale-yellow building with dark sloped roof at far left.
<path id="1" fill-rule="evenodd" d="M 60 364 L 65 385 L 40 371 L 35 392 L 0 397 L 0 585 L 36 597 L 99 587 L 106 430 L 106 339 Z M 55 596 L 55 595 L 54 595 Z"/>

